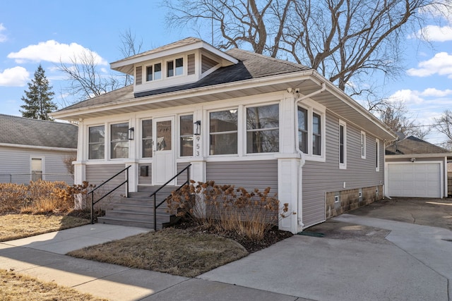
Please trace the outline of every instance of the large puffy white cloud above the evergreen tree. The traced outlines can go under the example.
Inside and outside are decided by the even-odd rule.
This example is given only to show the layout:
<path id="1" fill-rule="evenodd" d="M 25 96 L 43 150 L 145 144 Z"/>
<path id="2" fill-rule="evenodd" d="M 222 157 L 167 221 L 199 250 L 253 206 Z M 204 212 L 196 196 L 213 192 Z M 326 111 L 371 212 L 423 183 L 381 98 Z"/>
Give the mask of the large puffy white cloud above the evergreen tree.
<path id="1" fill-rule="evenodd" d="M 80 58 L 82 56 L 93 55 L 95 63 L 99 65 L 107 65 L 107 61 L 102 59 L 94 51 L 90 52 L 90 49 L 85 48 L 77 43 L 60 44 L 53 39 L 47 42 L 40 42 L 37 45 L 30 45 L 18 52 L 11 52 L 8 54 L 8 59 L 15 59 L 16 63 L 25 63 L 28 61 L 40 62 L 49 61 L 52 63 L 72 63 L 72 59 Z"/>

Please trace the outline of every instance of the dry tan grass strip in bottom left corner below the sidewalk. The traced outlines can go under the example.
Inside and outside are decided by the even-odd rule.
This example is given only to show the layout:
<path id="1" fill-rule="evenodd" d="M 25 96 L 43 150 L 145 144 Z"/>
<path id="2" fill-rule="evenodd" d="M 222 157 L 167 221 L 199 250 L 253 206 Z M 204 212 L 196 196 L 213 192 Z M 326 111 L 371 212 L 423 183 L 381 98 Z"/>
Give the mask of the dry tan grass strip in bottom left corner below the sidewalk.
<path id="1" fill-rule="evenodd" d="M 0 300 L 102 301 L 72 288 L 45 283 L 13 271 L 0 270 Z"/>

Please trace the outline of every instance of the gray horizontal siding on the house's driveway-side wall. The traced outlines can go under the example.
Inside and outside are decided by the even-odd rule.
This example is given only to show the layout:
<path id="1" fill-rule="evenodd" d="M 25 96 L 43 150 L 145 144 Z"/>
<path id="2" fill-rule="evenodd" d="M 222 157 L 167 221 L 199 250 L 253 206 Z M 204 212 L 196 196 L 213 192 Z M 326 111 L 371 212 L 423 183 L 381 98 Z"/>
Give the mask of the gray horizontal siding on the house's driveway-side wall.
<path id="1" fill-rule="evenodd" d="M 380 170 L 376 167 L 375 137 L 366 133 L 366 159 L 361 158 L 361 130 L 347 123 L 347 168 L 339 168 L 339 118 L 326 113 L 326 161 L 306 161 L 303 166 L 303 223 L 312 226 L 325 220 L 325 193 L 383 184 L 383 142 Z M 343 183 L 345 182 L 345 188 Z"/>

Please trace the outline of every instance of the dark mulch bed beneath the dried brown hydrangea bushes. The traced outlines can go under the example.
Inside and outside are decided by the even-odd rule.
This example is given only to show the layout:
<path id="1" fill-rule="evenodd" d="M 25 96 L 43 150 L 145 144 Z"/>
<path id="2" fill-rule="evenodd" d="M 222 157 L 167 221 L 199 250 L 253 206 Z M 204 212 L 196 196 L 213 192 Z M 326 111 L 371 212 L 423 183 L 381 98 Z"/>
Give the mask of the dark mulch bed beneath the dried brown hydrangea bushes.
<path id="1" fill-rule="evenodd" d="M 180 221 L 173 227 L 179 228 L 179 229 L 185 229 L 187 231 L 202 232 L 202 233 L 219 235 L 219 236 L 222 236 L 225 238 L 230 238 L 232 240 L 239 242 L 239 244 L 242 245 L 246 249 L 246 251 L 248 251 L 249 253 L 254 253 L 259 250 L 265 249 L 266 247 L 270 247 L 270 245 L 273 245 L 276 242 L 280 242 L 281 240 L 284 240 L 285 238 L 290 238 L 293 235 L 290 232 L 280 231 L 278 229 L 278 227 L 274 227 L 266 233 L 266 235 L 264 236 L 264 238 L 262 240 L 250 240 L 249 238 L 239 235 L 238 233 L 236 233 L 234 231 L 218 231 L 214 227 L 200 226 L 191 220 Z"/>

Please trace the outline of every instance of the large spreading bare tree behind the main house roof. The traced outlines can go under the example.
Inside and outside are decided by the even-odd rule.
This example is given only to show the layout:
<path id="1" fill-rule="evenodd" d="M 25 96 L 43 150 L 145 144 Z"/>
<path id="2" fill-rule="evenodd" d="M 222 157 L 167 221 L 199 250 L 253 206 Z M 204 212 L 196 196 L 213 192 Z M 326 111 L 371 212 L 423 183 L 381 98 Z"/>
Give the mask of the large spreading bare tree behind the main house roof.
<path id="1" fill-rule="evenodd" d="M 450 0 L 164 0 L 170 27 L 211 22 L 216 46 L 311 66 L 349 94 L 377 71 L 400 73 L 400 38 L 429 6 Z M 362 85 L 358 85 L 362 81 Z M 350 85 L 350 83 L 353 85 Z M 364 86 L 364 88 L 362 88 Z"/>

